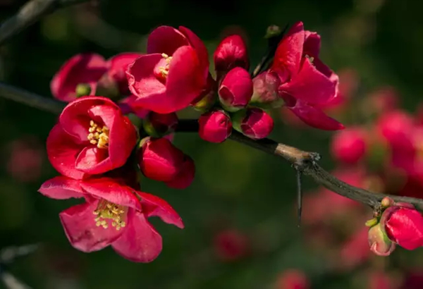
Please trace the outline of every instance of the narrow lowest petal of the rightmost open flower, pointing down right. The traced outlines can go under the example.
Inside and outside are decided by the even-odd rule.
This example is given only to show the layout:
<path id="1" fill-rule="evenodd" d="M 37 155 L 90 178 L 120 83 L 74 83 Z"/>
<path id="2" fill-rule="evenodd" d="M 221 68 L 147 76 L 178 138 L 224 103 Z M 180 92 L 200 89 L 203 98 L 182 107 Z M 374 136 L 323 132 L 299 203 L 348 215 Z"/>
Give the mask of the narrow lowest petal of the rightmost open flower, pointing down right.
<path id="1" fill-rule="evenodd" d="M 343 130 L 344 128 L 342 123 L 326 116 L 326 114 L 320 109 L 309 106 L 300 100 L 297 101 L 295 106 L 288 108 L 302 121 L 313 128 L 320 128 L 321 130 Z"/>

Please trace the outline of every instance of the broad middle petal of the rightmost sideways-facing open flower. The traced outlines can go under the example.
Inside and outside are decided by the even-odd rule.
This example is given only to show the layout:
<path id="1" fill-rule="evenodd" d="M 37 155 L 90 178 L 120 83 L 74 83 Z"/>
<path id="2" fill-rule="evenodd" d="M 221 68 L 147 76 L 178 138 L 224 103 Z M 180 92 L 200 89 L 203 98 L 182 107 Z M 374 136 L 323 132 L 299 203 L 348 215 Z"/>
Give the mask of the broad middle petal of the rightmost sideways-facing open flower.
<path id="1" fill-rule="evenodd" d="M 336 96 L 337 83 L 317 70 L 309 59 L 305 59 L 300 73 L 281 85 L 278 92 L 285 92 L 310 104 L 326 104 Z"/>

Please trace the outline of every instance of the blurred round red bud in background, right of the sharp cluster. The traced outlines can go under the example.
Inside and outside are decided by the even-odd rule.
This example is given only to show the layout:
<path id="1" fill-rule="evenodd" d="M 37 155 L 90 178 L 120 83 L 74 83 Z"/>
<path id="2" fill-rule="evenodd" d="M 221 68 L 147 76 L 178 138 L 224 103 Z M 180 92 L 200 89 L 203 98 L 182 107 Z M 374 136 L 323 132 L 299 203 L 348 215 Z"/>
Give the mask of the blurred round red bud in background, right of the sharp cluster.
<path id="1" fill-rule="evenodd" d="M 331 152 L 337 161 L 356 164 L 367 151 L 366 133 L 362 128 L 341 130 L 333 136 Z"/>

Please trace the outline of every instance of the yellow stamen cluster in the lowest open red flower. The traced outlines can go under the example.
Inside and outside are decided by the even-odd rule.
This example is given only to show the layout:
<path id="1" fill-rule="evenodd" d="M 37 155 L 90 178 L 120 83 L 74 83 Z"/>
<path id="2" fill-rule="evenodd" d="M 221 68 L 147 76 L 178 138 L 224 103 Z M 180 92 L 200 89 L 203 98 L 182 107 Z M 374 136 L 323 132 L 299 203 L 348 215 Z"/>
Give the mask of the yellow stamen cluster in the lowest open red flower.
<path id="1" fill-rule="evenodd" d="M 109 228 L 108 220 L 111 220 L 111 226 L 116 230 L 126 226 L 125 218 L 128 208 L 102 199 L 92 214 L 95 215 L 94 221 L 97 227 Z"/>

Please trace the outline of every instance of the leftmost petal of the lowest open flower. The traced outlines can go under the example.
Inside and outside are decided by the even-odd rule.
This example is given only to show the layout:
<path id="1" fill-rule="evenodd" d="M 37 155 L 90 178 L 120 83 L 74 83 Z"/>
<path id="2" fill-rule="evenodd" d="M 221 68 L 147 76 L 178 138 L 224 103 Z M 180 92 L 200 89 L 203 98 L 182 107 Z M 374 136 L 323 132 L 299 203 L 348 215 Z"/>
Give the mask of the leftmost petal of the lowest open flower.
<path id="1" fill-rule="evenodd" d="M 83 197 L 80 180 L 73 180 L 72 178 L 66 178 L 64 176 L 46 180 L 41 187 L 39 187 L 38 192 L 41 192 L 42 195 L 50 197 L 51 199 Z"/>

